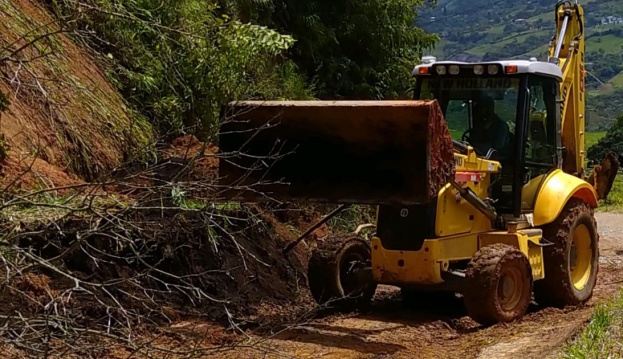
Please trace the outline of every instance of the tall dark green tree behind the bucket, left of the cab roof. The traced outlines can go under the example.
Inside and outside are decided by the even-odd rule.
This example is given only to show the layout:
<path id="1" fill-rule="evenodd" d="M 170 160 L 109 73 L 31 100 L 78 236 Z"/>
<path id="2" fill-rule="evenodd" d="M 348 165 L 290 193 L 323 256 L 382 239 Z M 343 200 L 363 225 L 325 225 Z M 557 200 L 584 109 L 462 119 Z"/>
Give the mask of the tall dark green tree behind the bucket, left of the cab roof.
<path id="1" fill-rule="evenodd" d="M 411 70 L 437 42 L 415 26 L 426 0 L 221 0 L 243 21 L 296 40 L 290 56 L 319 98 L 401 97 Z"/>

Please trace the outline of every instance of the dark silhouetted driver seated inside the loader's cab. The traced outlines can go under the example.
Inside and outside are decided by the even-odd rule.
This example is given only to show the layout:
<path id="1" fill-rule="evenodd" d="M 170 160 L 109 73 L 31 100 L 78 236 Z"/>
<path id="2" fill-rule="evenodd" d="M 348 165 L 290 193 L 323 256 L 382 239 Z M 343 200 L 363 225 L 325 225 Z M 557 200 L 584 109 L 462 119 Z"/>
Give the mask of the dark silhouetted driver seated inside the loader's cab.
<path id="1" fill-rule="evenodd" d="M 473 110 L 474 127 L 470 131 L 470 144 L 483 155 L 495 149 L 498 156 L 508 158 L 511 148 L 508 124 L 495 113 L 495 103 L 488 96 L 476 102 Z"/>

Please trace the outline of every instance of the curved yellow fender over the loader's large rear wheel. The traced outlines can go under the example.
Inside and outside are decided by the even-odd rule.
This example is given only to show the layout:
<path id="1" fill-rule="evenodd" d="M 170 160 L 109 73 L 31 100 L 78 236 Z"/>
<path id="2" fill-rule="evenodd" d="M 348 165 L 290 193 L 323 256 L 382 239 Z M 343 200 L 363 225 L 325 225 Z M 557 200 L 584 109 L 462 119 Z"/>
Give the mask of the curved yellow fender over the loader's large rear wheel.
<path id="1" fill-rule="evenodd" d="M 534 206 L 534 226 L 552 223 L 569 199 L 580 198 L 591 207 L 597 207 L 595 189 L 586 181 L 557 169 L 551 172 L 538 189 Z M 525 191 L 523 195 L 530 194 Z"/>

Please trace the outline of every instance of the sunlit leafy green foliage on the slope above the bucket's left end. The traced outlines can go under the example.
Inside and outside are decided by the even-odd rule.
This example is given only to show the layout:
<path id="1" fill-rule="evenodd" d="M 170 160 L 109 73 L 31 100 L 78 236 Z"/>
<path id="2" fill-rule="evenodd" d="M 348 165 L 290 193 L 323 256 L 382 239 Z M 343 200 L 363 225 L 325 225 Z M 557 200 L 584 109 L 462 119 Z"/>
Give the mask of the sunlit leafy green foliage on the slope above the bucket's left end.
<path id="1" fill-rule="evenodd" d="M 198 125 L 207 131 L 220 106 L 235 99 L 311 95 L 279 56 L 294 43 L 291 36 L 219 16 L 212 1 L 53 3 L 57 13 L 93 29 L 88 39 L 115 60 L 117 86 L 162 132 Z"/>

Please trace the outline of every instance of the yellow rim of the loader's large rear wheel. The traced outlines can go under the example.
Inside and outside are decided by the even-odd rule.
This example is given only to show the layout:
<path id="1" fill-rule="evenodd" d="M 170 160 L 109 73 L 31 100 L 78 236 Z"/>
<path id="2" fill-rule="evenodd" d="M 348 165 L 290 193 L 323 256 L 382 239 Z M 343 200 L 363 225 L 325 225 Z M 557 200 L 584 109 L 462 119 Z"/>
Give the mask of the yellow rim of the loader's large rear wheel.
<path id="1" fill-rule="evenodd" d="M 579 225 L 573 231 L 571 253 L 569 254 L 569 270 L 573 286 L 582 290 L 588 283 L 593 268 L 593 251 L 591 235 L 586 225 Z"/>

